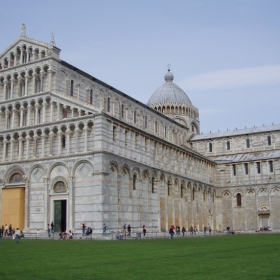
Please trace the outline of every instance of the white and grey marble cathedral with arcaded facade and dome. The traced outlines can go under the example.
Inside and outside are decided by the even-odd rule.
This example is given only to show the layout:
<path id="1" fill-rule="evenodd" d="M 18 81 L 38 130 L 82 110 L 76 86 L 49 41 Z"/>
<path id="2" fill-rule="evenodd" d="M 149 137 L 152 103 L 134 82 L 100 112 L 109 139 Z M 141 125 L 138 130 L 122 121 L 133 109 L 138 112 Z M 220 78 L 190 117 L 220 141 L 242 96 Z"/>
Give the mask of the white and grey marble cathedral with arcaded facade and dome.
<path id="1" fill-rule="evenodd" d="M 142 104 L 60 59 L 54 37 L 0 54 L 0 224 L 280 229 L 280 125 L 200 133 L 174 82 Z"/>

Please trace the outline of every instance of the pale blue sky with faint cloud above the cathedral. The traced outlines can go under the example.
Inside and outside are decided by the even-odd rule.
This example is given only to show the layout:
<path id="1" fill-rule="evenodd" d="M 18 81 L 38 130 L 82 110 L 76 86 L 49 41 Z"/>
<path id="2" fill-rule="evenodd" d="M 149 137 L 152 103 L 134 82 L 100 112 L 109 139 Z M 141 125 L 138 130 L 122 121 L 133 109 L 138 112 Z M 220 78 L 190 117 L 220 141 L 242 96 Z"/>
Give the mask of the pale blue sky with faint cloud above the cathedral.
<path id="1" fill-rule="evenodd" d="M 0 0 L 0 53 L 29 38 L 146 104 L 167 65 L 202 133 L 279 124 L 280 0 Z"/>

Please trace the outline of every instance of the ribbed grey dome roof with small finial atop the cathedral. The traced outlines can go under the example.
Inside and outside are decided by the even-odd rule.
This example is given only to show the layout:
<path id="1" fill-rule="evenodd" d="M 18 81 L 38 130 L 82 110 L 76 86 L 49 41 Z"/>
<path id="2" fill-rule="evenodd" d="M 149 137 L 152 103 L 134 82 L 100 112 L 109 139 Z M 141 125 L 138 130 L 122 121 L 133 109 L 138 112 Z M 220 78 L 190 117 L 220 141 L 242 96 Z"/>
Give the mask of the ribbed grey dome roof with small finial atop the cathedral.
<path id="1" fill-rule="evenodd" d="M 192 103 L 187 94 L 176 84 L 173 83 L 174 76 L 168 69 L 168 72 L 164 76 L 165 83 L 160 86 L 150 97 L 148 104 L 158 103 Z"/>

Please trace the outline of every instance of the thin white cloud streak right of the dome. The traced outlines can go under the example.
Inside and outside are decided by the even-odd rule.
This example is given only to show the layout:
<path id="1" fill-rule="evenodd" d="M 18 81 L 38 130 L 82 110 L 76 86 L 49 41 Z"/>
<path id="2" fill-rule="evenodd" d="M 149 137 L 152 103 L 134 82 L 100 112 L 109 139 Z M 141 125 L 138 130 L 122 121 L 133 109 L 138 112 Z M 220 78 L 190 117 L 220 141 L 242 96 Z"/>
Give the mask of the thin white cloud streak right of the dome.
<path id="1" fill-rule="evenodd" d="M 227 69 L 191 76 L 181 84 L 187 91 L 280 83 L 280 65 Z"/>

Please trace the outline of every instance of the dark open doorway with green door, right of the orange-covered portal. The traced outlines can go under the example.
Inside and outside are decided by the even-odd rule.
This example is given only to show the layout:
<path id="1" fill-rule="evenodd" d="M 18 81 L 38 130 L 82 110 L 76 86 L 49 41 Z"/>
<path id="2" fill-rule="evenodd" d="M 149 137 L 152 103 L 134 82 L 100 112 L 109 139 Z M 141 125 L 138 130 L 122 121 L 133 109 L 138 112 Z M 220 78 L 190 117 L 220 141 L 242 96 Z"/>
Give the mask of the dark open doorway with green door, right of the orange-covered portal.
<path id="1" fill-rule="evenodd" d="M 65 231 L 67 228 L 66 214 L 67 214 L 67 200 L 54 201 L 54 231 Z"/>

